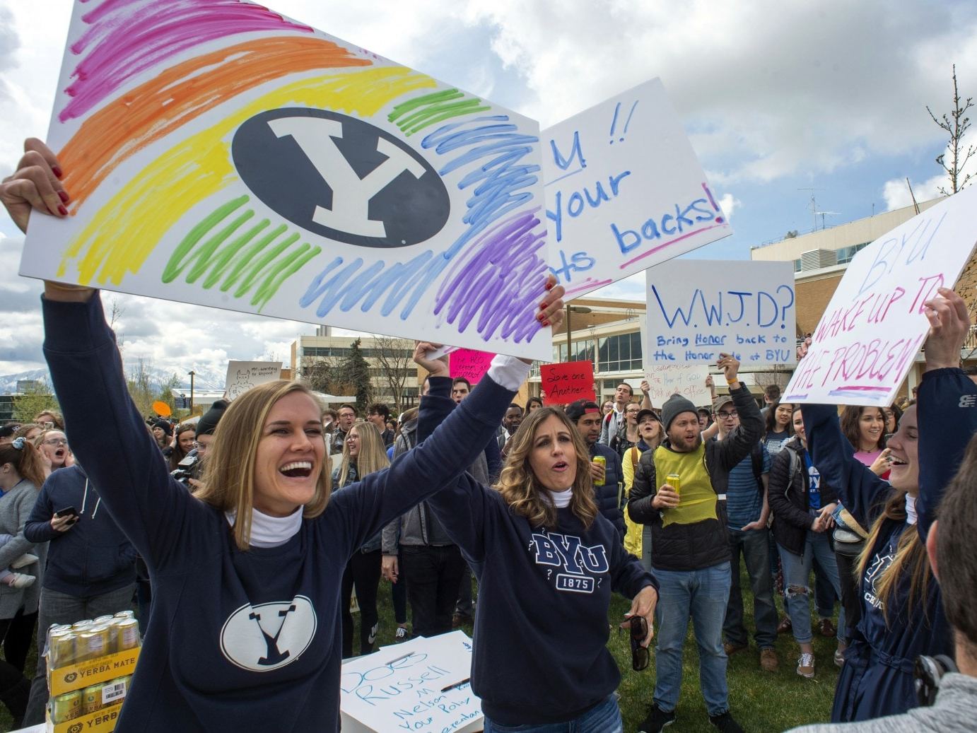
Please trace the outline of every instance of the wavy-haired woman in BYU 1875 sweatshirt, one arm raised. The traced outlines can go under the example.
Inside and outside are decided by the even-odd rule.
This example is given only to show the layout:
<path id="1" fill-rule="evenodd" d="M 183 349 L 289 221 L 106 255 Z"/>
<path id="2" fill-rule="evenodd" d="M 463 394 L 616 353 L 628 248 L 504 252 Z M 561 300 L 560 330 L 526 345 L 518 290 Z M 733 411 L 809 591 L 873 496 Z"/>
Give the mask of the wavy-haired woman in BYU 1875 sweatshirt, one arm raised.
<path id="1" fill-rule="evenodd" d="M 429 381 L 418 440 L 437 424 L 423 410 L 449 419 L 453 408 L 450 381 Z M 589 405 L 596 433 L 600 411 Z M 657 582 L 598 510 L 590 451 L 573 414 L 532 410 L 509 442 L 497 484 L 466 473 L 427 503 L 471 565 L 487 609 L 475 616 L 471 671 L 486 733 L 556 724 L 621 731 L 620 672 L 607 648 L 611 593 L 632 599 L 622 627 L 631 632 L 633 666 L 644 668 Z"/>

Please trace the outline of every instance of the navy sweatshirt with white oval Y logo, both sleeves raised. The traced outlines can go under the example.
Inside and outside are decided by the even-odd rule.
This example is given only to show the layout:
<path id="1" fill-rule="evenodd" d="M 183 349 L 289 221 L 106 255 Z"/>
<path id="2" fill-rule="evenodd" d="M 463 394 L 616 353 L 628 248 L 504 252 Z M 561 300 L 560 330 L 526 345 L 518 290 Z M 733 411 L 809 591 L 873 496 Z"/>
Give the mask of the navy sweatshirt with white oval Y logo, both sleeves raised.
<path id="1" fill-rule="evenodd" d="M 338 492 L 285 544 L 241 551 L 224 513 L 170 477 L 129 399 L 98 295 L 44 301 L 43 313 L 71 448 L 152 582 L 143 652 L 115 730 L 338 730 L 347 561 L 475 460 L 513 393 L 483 379 L 423 446 Z M 93 423 L 97 432 L 85 429 Z"/>

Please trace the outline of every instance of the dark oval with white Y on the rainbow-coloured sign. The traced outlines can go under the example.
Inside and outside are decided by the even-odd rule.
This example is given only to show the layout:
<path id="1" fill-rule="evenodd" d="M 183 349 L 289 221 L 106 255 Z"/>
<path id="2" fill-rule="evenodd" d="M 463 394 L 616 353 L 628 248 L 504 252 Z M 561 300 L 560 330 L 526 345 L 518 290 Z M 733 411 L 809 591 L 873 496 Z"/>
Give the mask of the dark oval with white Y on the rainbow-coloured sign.
<path id="1" fill-rule="evenodd" d="M 244 185 L 276 213 L 348 244 L 417 244 L 450 212 L 441 176 L 420 153 L 345 114 L 261 112 L 237 128 L 231 154 Z"/>

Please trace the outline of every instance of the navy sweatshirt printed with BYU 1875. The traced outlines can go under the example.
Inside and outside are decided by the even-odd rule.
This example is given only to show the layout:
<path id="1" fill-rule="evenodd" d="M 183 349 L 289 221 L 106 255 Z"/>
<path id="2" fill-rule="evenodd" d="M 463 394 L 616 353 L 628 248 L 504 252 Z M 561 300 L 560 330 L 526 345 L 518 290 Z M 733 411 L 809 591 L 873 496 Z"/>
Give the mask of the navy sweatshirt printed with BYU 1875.
<path id="1" fill-rule="evenodd" d="M 419 438 L 438 425 L 439 412 L 454 409 L 449 392 L 449 379 L 431 380 Z M 488 717 L 561 722 L 613 693 L 620 672 L 607 648 L 611 591 L 633 598 L 658 587 L 614 525 L 598 514 L 585 529 L 567 507 L 557 510 L 556 527 L 532 527 L 469 474 L 428 505 L 479 579 L 472 690 Z"/>

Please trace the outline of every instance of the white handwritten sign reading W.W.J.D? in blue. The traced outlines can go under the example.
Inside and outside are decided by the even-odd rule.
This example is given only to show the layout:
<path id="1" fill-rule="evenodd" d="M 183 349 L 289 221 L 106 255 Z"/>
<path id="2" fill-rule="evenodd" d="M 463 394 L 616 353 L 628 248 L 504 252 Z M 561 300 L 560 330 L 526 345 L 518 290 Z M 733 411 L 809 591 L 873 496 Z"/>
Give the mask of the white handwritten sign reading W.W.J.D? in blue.
<path id="1" fill-rule="evenodd" d="M 646 362 L 793 364 L 796 315 L 789 262 L 671 260 L 645 274 Z"/>

